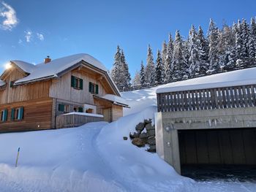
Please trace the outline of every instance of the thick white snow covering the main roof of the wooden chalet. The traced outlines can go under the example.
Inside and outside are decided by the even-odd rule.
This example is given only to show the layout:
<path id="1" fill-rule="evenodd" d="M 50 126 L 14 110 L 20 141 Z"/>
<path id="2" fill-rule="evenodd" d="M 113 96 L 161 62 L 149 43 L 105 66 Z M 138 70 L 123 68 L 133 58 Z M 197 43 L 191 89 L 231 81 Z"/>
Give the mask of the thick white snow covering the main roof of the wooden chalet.
<path id="1" fill-rule="evenodd" d="M 15 84 L 30 82 L 34 80 L 42 80 L 51 77 L 58 77 L 59 73 L 63 72 L 65 69 L 68 69 L 69 67 L 72 67 L 75 64 L 78 64 L 80 61 L 86 61 L 87 63 L 97 67 L 98 69 L 102 69 L 105 72 L 108 71 L 101 62 L 86 53 L 69 55 L 64 58 L 58 58 L 50 61 L 48 64 L 42 63 L 35 66 L 23 61 L 13 61 L 21 69 L 24 69 L 26 72 L 30 73 L 27 77 L 17 80 Z"/>

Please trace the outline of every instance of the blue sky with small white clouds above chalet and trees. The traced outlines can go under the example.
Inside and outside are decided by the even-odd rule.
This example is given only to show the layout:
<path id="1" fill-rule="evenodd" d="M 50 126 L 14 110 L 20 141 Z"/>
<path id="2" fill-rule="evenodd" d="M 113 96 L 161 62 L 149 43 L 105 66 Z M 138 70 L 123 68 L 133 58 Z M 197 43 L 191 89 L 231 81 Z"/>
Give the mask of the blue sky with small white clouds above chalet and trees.
<path id="1" fill-rule="evenodd" d="M 146 63 L 147 45 L 155 56 L 169 32 L 187 37 L 194 24 L 206 33 L 209 18 L 218 26 L 249 20 L 255 7 L 255 0 L 0 0 L 0 73 L 13 59 L 38 64 L 46 55 L 75 53 L 89 53 L 110 69 L 120 45 L 133 76 Z"/>

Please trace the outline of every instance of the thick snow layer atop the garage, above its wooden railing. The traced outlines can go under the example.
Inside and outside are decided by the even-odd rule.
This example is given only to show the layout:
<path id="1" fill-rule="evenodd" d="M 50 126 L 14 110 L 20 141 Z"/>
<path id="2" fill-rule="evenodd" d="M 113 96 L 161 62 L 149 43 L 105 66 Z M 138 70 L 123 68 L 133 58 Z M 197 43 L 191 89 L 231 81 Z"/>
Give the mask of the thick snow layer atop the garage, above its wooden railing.
<path id="1" fill-rule="evenodd" d="M 157 89 L 157 93 L 189 91 L 205 88 L 224 88 L 252 84 L 256 84 L 256 67 L 241 69 L 233 72 L 211 74 L 205 77 L 197 77 L 190 80 L 171 82 L 160 86 Z"/>

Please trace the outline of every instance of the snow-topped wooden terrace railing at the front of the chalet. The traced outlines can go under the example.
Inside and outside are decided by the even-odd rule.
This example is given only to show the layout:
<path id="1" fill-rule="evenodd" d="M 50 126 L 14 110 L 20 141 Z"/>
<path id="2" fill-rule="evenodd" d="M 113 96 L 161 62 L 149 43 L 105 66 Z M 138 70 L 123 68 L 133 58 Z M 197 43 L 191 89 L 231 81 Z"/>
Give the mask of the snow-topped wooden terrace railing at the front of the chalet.
<path id="1" fill-rule="evenodd" d="M 99 115 L 81 115 L 77 113 L 70 113 L 59 115 L 56 117 L 56 128 L 71 128 L 82 126 L 86 123 L 103 121 L 103 116 Z"/>

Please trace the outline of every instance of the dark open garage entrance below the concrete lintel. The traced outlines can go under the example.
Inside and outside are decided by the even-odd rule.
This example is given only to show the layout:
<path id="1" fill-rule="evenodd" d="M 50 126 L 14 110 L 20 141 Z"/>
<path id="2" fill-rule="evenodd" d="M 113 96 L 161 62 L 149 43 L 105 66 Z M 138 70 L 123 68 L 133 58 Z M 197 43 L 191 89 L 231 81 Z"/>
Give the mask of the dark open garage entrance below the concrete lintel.
<path id="1" fill-rule="evenodd" d="M 181 174 L 256 179 L 256 128 L 178 130 Z"/>

